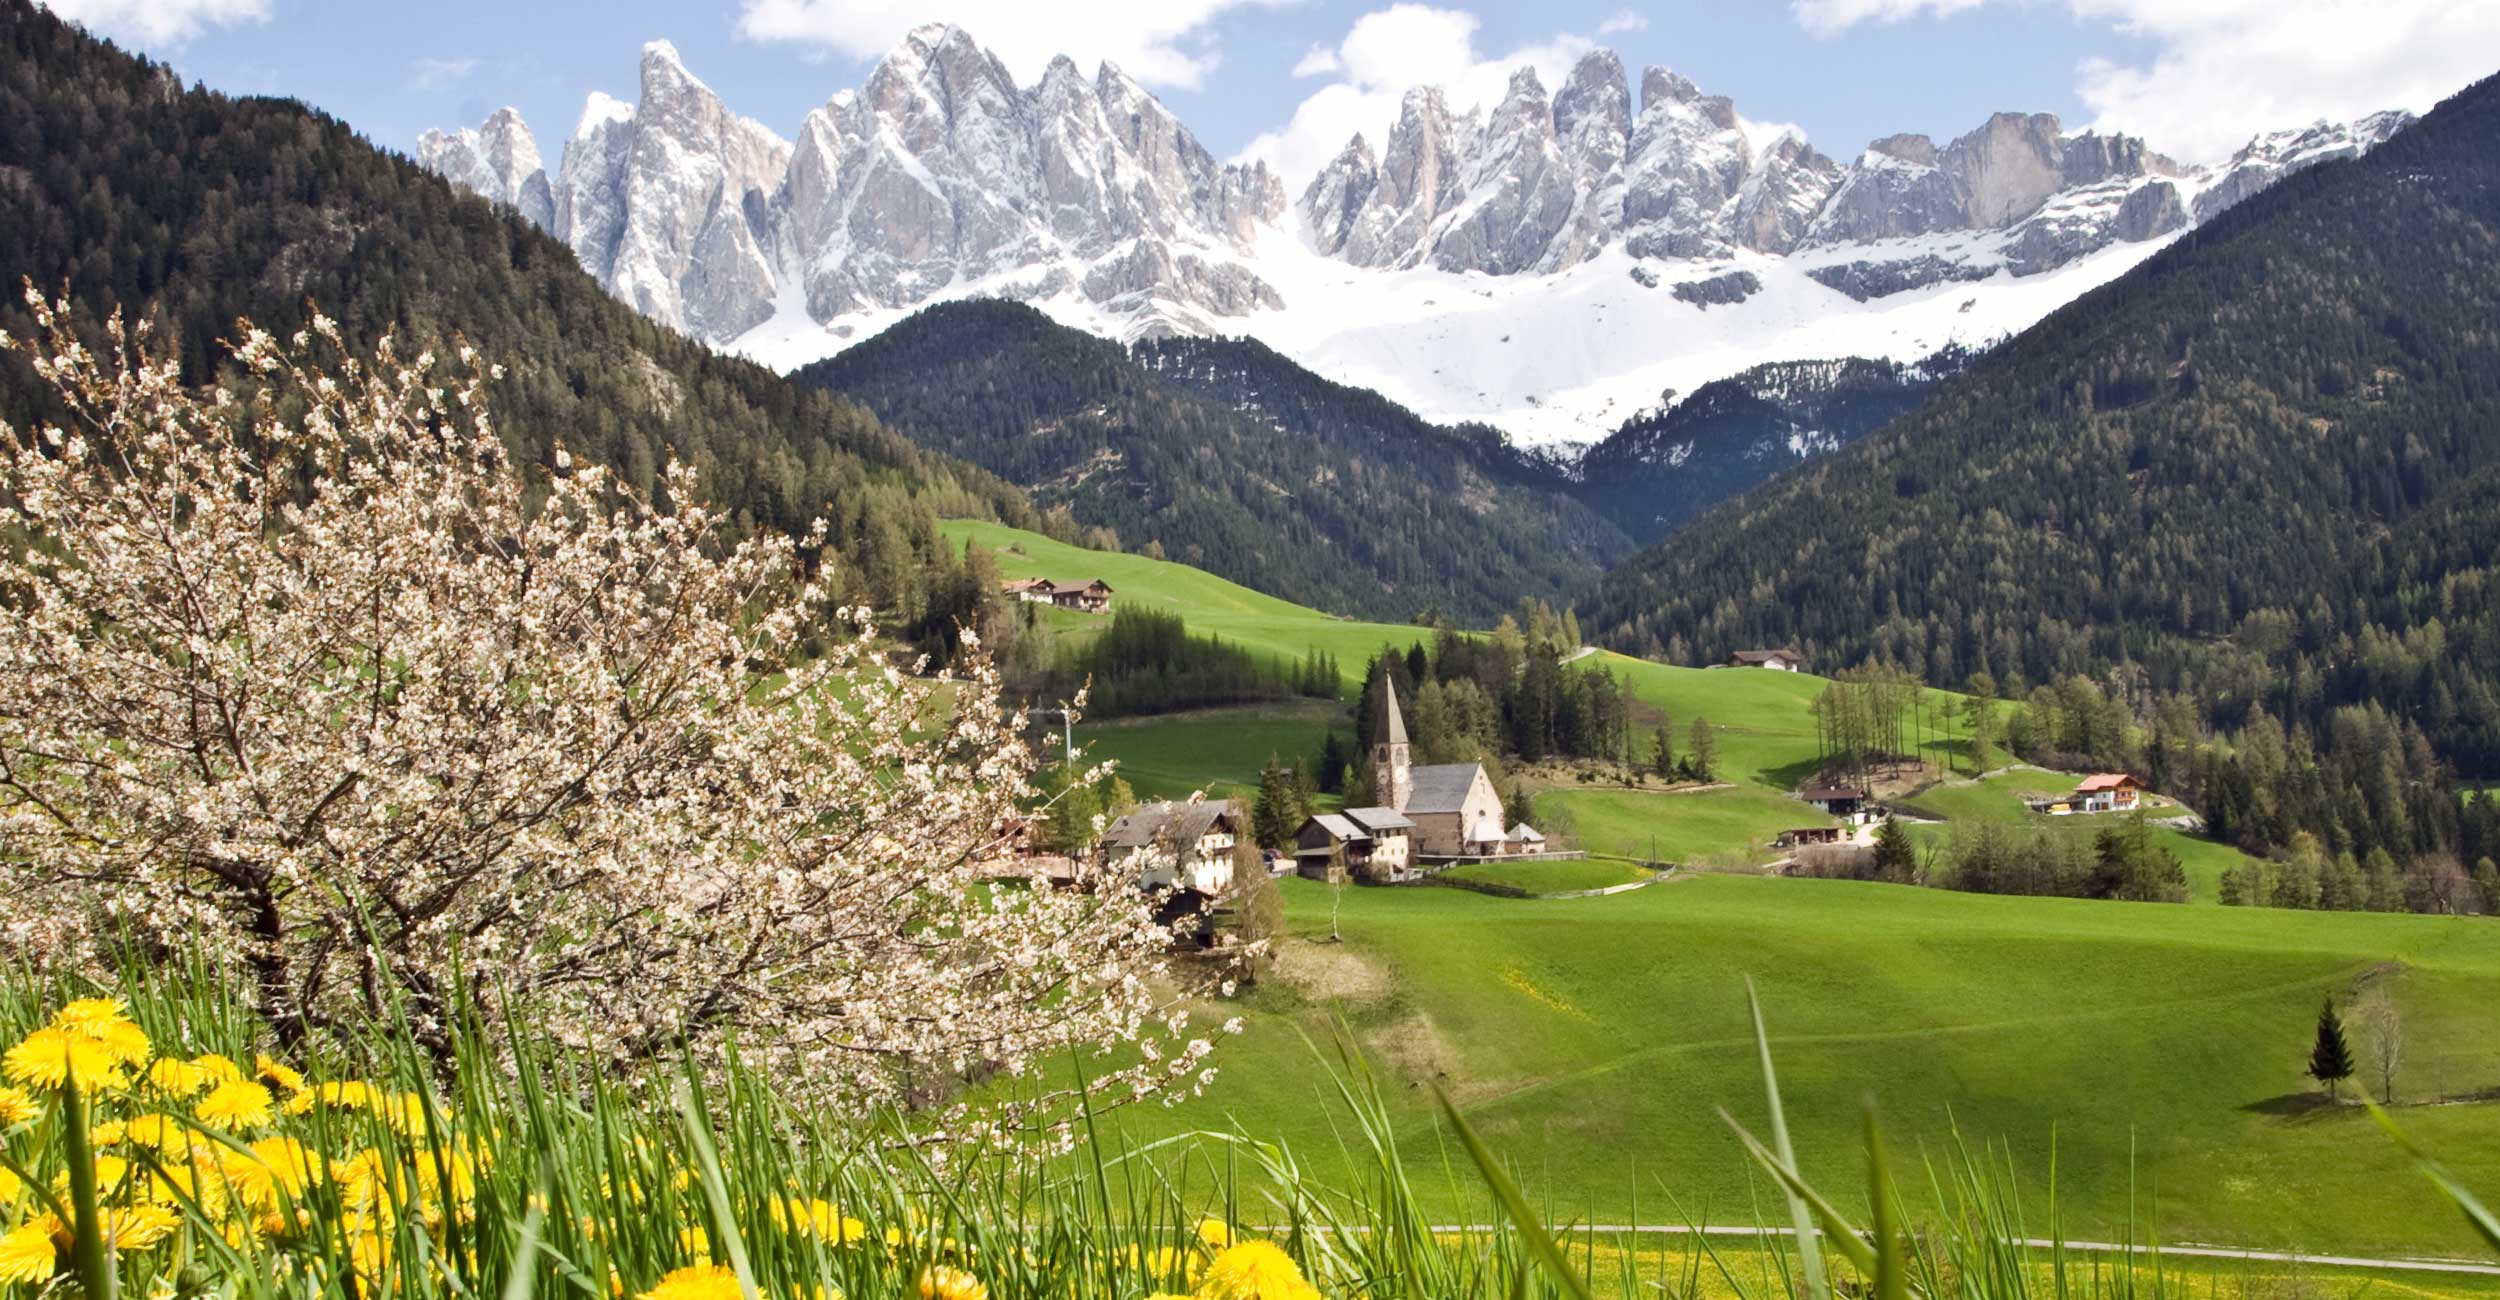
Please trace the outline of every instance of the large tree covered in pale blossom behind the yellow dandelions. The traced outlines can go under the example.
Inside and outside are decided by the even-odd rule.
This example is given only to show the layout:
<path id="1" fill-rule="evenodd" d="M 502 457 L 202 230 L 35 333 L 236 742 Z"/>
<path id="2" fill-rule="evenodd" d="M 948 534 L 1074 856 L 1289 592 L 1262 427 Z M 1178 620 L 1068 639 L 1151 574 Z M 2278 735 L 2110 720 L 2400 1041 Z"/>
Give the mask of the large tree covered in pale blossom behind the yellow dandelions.
<path id="1" fill-rule="evenodd" d="M 898 670 L 808 548 L 722 545 L 685 468 L 525 472 L 468 348 L 245 322 L 242 400 L 28 302 L 0 348 L 72 418 L 0 425 L 5 948 L 200 950 L 282 1040 L 395 1005 L 628 1062 L 735 1038 L 852 1105 L 1070 1050 L 1115 1100 L 1205 1080 L 1135 888 L 982 875 L 1035 768 L 988 668 Z M 980 1122 L 1070 1100 L 1000 1092 Z"/>

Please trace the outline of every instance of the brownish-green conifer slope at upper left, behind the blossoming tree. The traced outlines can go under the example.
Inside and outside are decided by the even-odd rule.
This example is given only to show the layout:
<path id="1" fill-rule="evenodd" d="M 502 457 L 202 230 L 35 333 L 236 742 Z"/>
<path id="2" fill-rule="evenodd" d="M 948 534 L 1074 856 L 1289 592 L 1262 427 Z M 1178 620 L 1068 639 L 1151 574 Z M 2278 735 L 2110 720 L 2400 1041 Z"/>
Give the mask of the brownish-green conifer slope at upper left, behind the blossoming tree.
<path id="1" fill-rule="evenodd" d="M 938 515 L 1038 522 L 1022 492 L 930 455 L 865 410 L 642 320 L 572 252 L 295 100 L 185 90 L 165 65 L 0 0 L 0 328 L 20 280 L 98 318 L 145 312 L 195 380 L 225 378 L 238 315 L 300 328 L 318 305 L 368 348 L 465 335 L 500 360 L 518 455 L 575 455 L 650 488 L 668 455 L 748 528 L 832 520 L 855 588 L 912 605 Z M 0 365 L 0 418 L 45 395 Z"/>

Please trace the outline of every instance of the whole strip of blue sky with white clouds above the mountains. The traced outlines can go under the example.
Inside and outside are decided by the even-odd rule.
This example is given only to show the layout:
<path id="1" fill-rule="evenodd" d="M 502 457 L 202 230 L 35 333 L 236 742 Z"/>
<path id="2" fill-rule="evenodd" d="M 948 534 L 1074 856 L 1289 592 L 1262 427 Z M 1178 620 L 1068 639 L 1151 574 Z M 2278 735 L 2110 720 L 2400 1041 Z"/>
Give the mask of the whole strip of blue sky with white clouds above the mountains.
<path id="1" fill-rule="evenodd" d="M 555 168 L 582 98 L 632 100 L 650 38 L 740 112 L 792 135 L 902 30 L 952 20 L 1030 80 L 1052 52 L 1110 58 L 1218 155 L 1292 178 L 1378 132 L 1412 82 L 1465 102 L 1528 62 L 1555 85 L 1590 45 L 1730 95 L 1835 158 L 1870 138 L 1938 138 L 1988 112 L 2138 130 L 2182 158 L 2252 130 L 2428 108 L 2500 68 L 2500 0 L 50 0 L 65 15 L 235 92 L 295 95 L 410 150 L 500 105 Z"/>

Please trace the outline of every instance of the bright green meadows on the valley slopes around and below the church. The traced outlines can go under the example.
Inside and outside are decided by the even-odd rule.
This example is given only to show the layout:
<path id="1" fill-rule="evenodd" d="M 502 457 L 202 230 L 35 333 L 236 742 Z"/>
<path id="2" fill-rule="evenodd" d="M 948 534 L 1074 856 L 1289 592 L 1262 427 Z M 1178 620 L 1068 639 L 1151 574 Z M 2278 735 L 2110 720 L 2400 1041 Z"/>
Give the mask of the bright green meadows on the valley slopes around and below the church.
<path id="1" fill-rule="evenodd" d="M 948 525 L 1008 575 L 1100 575 L 1282 658 L 1338 655 L 1352 678 L 1415 628 L 1335 620 L 1135 555 L 1028 532 Z M 1070 630 L 1082 630 L 1078 620 Z M 1582 660 L 1585 662 L 1585 660 Z M 1708 718 L 1725 785 L 1690 792 L 1552 785 L 1540 820 L 1595 852 L 1748 865 L 1788 828 L 1825 818 L 1788 798 L 1815 772 L 1812 675 L 1602 662 L 1672 722 Z M 1932 692 L 1942 705 L 1960 698 Z M 1248 792 L 1270 752 L 1312 752 L 1325 702 L 1080 725 L 1140 795 Z M 1648 735 L 1642 735 L 1642 742 Z M 1922 745 L 1968 762 L 1940 728 Z M 1952 778 L 1910 802 L 1940 825 L 2035 820 L 2028 792 L 2072 775 L 2010 768 Z M 2100 818 L 2058 830 L 2092 832 Z M 2198 902 L 2215 900 L 2230 845 L 2160 830 Z M 1485 868 L 1488 880 L 1615 880 L 1612 862 Z M 1535 872 L 1535 875 L 1532 875 Z M 1898 885 L 1685 872 L 1590 900 L 1508 900 L 1442 888 L 1345 890 L 1345 942 L 1325 942 L 1330 890 L 1280 882 L 1290 938 L 1238 1002 L 1245 1032 L 1218 1052 L 1212 1092 L 1122 1112 L 1130 1140 L 1240 1125 L 1308 1168 L 1352 1178 L 1322 1062 L 1338 1032 L 1380 1072 L 1405 1155 L 1440 1168 L 1430 1090 L 1445 1088 L 1560 1218 L 1758 1222 L 1778 1200 L 1748 1175 L 1720 1108 L 1760 1128 L 1745 980 L 1762 990 L 1780 1082 L 1808 1175 L 1862 1200 L 1862 1102 L 1898 1152 L 1968 1142 L 2025 1190 L 2048 1230 L 2120 1235 L 2130 1215 L 2170 1242 L 2468 1255 L 2472 1240 L 2355 1105 L 2320 1105 L 2302 1078 L 2325 995 L 2388 982 L 2408 1015 L 2398 1120 L 2470 1185 L 2500 1188 L 2500 925 L 2475 918 L 2278 912 L 1982 898 Z M 1550 885 L 1560 888 L 1560 885 Z M 2358 1035 L 2358 1030 L 2355 1030 Z M 1315 1048 L 1318 1045 L 1318 1048 Z M 2348 1088 L 2350 1095 L 2350 1088 Z M 1170 1148 L 1165 1148 L 1170 1150 Z M 1862 1208 L 1862 1205 L 1860 1205 Z M 1458 1212 L 1460 1205 L 1445 1210 Z"/>

